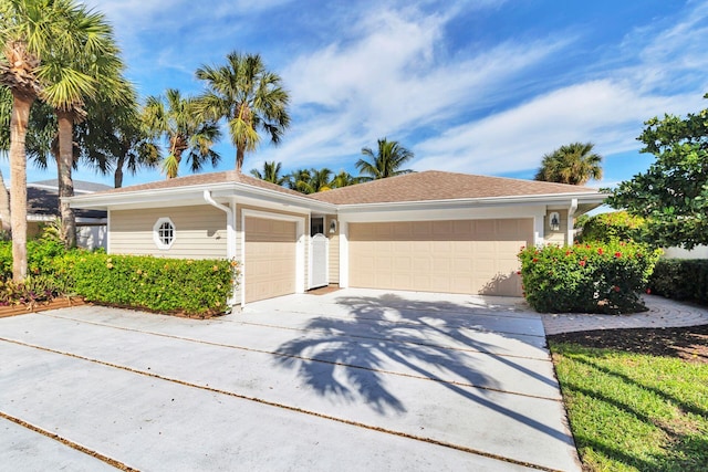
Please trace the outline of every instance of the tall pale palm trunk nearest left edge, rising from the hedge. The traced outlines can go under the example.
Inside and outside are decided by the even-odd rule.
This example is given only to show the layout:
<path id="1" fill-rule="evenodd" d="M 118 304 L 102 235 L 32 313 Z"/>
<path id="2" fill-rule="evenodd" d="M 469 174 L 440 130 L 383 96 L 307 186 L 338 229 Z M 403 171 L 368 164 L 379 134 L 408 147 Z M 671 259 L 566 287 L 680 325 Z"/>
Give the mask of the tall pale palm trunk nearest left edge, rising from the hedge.
<path id="1" fill-rule="evenodd" d="M 10 223 L 12 225 L 12 279 L 27 276 L 27 155 L 24 139 L 34 97 L 12 94 L 10 119 Z"/>

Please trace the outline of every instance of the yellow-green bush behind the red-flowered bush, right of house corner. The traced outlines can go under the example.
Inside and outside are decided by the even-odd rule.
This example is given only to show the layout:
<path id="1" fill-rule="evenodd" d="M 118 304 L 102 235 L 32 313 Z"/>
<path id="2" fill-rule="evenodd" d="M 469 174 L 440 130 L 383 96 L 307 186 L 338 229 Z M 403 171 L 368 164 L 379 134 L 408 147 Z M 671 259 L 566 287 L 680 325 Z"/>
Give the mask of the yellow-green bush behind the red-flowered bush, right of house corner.
<path id="1" fill-rule="evenodd" d="M 611 242 L 646 240 L 646 222 L 642 217 L 633 217 L 626 211 L 600 213 L 584 220 L 579 242 Z"/>

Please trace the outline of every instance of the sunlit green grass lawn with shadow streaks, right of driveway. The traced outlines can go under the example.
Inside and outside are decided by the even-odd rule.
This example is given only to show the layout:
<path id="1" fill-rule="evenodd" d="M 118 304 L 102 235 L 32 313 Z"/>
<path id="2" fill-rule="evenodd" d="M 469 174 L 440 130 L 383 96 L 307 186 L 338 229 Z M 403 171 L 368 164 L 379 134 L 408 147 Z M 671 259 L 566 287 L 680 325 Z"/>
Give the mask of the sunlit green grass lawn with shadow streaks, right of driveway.
<path id="1" fill-rule="evenodd" d="M 708 471 L 708 365 L 551 342 L 587 471 Z"/>

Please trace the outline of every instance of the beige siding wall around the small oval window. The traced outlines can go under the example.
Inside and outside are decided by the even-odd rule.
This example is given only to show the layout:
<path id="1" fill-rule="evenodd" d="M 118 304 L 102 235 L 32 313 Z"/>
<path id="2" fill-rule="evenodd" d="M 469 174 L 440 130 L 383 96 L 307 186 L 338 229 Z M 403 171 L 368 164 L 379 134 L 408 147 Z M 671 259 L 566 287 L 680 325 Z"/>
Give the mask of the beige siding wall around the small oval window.
<path id="1" fill-rule="evenodd" d="M 211 206 L 149 208 L 111 211 L 110 252 L 183 259 L 227 256 L 226 213 Z M 175 223 L 175 242 L 157 248 L 153 227 L 159 218 Z"/>

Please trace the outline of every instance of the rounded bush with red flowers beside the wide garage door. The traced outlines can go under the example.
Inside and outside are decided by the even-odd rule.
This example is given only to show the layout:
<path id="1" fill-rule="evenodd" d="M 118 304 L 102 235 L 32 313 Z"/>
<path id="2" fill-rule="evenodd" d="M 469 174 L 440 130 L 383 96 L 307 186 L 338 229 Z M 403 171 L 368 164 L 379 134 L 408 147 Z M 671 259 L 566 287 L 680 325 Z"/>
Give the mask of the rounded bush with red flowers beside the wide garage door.
<path id="1" fill-rule="evenodd" d="M 528 248 L 519 253 L 524 296 L 542 313 L 632 313 L 644 310 L 660 254 L 634 242 Z"/>

